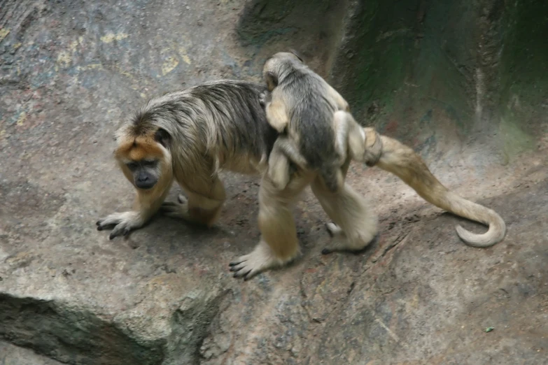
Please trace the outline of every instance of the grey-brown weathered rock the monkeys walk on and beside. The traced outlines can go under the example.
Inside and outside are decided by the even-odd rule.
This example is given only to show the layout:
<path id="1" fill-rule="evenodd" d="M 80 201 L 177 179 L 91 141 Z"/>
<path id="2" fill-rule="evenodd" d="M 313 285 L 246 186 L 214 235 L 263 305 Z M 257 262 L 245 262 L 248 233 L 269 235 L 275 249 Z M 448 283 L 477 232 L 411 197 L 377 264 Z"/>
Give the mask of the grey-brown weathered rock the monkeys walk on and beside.
<path id="1" fill-rule="evenodd" d="M 467 8 L 484 21 L 475 31 L 489 35 L 503 14 L 522 19 L 519 9 L 497 13 L 499 2 L 479 1 L 485 13 Z M 337 1 L 295 4 L 4 1 L 1 365 L 547 364 L 548 123 L 544 104 L 534 99 L 544 95 L 548 103 L 546 74 L 531 82 L 535 93 L 524 92 L 524 82 L 518 90 L 507 87 L 507 99 L 500 99 L 507 110 L 491 108 L 489 117 L 499 97 L 496 78 L 486 78 L 493 84 L 483 90 L 474 75 L 476 63 L 495 74 L 485 60 L 496 52 L 443 78 L 444 69 L 429 73 L 428 62 L 439 64 L 421 58 L 427 48 L 414 55 L 422 67 L 390 80 L 422 80 L 420 93 L 407 85 L 411 91 L 395 90 L 391 102 L 382 87 L 349 97 L 360 120 L 370 118 L 413 145 L 444 184 L 503 216 L 507 237 L 493 248 L 469 248 L 454 231 L 457 222 L 484 227 L 441 214 L 393 176 L 357 165 L 349 183 L 370 196 L 381 219 L 379 240 L 359 255 L 320 254 L 329 240 L 326 217 L 307 192 L 295 207 L 303 257 L 248 282 L 233 279 L 228 262 L 259 237 L 258 179 L 230 173 L 213 229 L 158 216 L 125 240 L 108 241 L 95 230 L 98 217 L 131 205 L 131 186 L 111 159 L 111 135 L 148 97 L 216 78 L 258 80 L 265 57 L 295 45 L 318 72 L 340 76 L 341 90 L 375 89 L 367 83 L 352 89 L 349 73 L 360 69 L 349 53 L 359 43 L 352 40 L 377 29 L 364 31 L 360 19 L 375 13 L 360 13 L 357 1 L 344 8 Z M 416 17 L 395 17 L 405 27 L 379 21 L 375 42 L 398 43 L 398 34 L 411 34 L 421 48 L 444 16 L 449 30 L 430 41 L 455 41 L 451 29 L 465 28 L 461 17 L 449 22 L 442 5 L 421 6 L 409 10 Z M 408 27 L 423 19 L 430 28 Z M 470 38 L 479 48 L 474 40 L 482 37 Z M 371 52 L 382 59 L 392 46 Z M 524 62 L 545 62 L 534 50 Z M 442 55 L 449 64 L 464 62 L 458 52 L 455 46 Z M 341 57 L 352 62 L 337 62 Z M 364 73 L 379 67 L 374 60 L 361 65 Z M 461 83 L 468 86 L 458 89 Z M 412 110 L 393 108 L 412 101 Z M 481 113 L 467 114 L 476 113 L 479 101 Z M 523 124 L 516 124 L 521 116 Z"/>

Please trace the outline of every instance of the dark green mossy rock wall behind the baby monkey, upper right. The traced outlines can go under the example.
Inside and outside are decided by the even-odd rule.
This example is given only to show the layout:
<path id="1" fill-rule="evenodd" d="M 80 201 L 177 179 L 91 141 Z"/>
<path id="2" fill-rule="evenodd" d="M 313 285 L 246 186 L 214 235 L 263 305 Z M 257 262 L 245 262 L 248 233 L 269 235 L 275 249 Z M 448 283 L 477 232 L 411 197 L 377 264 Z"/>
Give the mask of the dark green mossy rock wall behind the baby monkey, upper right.
<path id="1" fill-rule="evenodd" d="M 547 128 L 546 1 L 258 0 L 238 29 L 255 71 L 295 48 L 357 120 L 425 153 L 489 142 L 507 162 Z"/>

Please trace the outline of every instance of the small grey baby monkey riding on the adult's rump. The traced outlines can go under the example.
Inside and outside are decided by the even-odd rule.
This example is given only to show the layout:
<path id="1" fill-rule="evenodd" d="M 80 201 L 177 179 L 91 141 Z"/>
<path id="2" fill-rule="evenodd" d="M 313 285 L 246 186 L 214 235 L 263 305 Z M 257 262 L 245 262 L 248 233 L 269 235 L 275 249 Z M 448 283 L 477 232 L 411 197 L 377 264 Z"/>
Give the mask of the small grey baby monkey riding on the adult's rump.
<path id="1" fill-rule="evenodd" d="M 267 92 L 261 96 L 269 124 L 279 132 L 269 157 L 268 175 L 283 189 L 290 162 L 318 171 L 330 192 L 344 184 L 347 152 L 373 165 L 381 146 L 366 149 L 365 131 L 349 113 L 349 104 L 295 52 L 278 52 L 263 67 Z M 377 139 L 374 139 L 377 141 Z"/>

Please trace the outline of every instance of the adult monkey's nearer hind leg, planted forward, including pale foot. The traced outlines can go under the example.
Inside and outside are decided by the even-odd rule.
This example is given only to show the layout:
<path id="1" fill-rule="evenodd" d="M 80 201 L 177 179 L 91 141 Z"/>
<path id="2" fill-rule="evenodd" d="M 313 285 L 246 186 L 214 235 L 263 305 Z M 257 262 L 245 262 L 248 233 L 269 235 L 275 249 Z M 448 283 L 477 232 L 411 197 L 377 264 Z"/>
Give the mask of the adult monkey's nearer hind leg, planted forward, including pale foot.
<path id="1" fill-rule="evenodd" d="M 259 189 L 259 229 L 261 238 L 248 255 L 230 263 L 234 278 L 248 280 L 253 275 L 282 266 L 300 253 L 297 229 L 290 210 L 290 203 L 302 192 L 309 180 L 293 178 L 286 189 L 276 189 L 267 176 L 262 178 Z"/>

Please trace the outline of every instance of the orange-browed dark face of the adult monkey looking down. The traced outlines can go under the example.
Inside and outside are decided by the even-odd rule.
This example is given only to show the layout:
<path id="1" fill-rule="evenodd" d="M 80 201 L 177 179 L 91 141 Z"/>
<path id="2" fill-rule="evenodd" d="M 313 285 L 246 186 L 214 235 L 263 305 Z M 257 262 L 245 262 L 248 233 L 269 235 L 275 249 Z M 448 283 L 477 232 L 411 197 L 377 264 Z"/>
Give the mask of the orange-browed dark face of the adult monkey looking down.
<path id="1" fill-rule="evenodd" d="M 125 177 L 137 189 L 153 189 L 164 175 L 171 173 L 169 136 L 163 129 L 145 136 L 122 136 L 115 157 Z"/>

